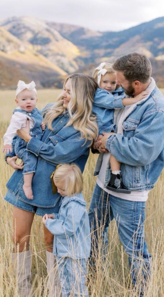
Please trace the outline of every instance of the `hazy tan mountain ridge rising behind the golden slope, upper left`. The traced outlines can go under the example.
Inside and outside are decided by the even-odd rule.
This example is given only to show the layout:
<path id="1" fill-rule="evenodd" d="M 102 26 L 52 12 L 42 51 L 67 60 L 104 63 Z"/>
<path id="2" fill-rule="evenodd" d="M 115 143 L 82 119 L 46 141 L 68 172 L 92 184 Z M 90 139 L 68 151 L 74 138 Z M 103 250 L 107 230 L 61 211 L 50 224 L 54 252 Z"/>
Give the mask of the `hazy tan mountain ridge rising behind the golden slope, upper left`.
<path id="1" fill-rule="evenodd" d="M 80 55 L 76 45 L 61 36 L 44 20 L 32 17 L 12 17 L 0 23 L 7 31 L 23 42 L 29 42 L 33 49 L 44 55 L 66 72 L 78 69 L 74 59 Z"/>

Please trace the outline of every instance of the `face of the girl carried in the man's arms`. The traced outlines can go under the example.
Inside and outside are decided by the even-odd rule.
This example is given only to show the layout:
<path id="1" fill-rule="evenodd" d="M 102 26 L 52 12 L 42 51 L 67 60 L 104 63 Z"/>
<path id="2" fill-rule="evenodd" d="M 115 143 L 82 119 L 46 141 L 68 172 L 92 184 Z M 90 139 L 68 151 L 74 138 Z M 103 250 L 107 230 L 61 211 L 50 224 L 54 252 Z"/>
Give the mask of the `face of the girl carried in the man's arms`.
<path id="1" fill-rule="evenodd" d="M 107 90 L 108 92 L 113 92 L 116 89 L 116 74 L 106 73 L 101 75 L 100 88 Z"/>

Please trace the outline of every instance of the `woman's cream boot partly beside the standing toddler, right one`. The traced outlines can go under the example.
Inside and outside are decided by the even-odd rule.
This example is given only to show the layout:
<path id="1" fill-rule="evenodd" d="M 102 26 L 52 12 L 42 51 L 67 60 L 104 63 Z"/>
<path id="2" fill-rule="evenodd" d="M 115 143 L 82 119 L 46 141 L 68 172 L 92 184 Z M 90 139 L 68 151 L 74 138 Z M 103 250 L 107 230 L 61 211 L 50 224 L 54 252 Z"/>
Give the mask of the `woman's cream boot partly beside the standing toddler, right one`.
<path id="1" fill-rule="evenodd" d="M 47 257 L 47 274 L 48 274 L 48 297 L 61 296 L 61 284 L 59 279 L 59 272 L 57 268 L 56 257 L 53 253 L 46 251 Z"/>

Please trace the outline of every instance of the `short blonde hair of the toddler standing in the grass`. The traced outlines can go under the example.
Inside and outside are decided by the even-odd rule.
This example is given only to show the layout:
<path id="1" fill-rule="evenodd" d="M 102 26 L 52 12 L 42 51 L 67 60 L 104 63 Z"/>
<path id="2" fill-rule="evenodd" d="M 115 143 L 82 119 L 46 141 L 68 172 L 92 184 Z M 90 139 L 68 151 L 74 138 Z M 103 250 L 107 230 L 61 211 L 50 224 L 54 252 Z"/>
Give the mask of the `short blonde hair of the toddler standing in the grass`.
<path id="1" fill-rule="evenodd" d="M 53 175 L 54 184 L 64 181 L 67 196 L 80 193 L 83 190 L 83 176 L 80 168 L 72 164 L 59 164 Z"/>

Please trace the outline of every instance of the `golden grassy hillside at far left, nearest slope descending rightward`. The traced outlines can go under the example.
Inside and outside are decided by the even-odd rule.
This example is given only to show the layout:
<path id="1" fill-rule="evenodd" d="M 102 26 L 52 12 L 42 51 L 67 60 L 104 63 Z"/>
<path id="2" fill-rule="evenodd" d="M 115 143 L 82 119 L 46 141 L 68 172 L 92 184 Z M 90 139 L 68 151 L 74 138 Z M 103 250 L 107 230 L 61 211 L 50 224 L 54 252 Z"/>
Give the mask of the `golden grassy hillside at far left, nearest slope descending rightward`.
<path id="1" fill-rule="evenodd" d="M 27 82 L 34 80 L 38 88 L 50 80 L 50 84 L 54 85 L 59 76 L 67 75 L 63 69 L 32 49 L 30 43 L 22 42 L 1 27 L 0 65 L 0 86 L 5 89 L 15 88 L 19 79 Z"/>

